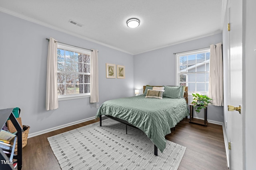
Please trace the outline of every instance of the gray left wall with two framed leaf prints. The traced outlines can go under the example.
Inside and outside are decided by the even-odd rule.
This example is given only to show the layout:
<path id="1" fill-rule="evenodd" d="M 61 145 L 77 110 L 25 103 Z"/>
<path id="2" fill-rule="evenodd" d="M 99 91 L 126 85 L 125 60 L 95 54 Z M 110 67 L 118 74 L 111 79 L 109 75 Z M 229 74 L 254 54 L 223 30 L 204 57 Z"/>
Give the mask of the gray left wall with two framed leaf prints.
<path id="1" fill-rule="evenodd" d="M 22 124 L 30 126 L 30 133 L 94 117 L 97 111 L 90 98 L 59 101 L 58 109 L 45 110 L 46 38 L 98 49 L 98 104 L 134 95 L 132 55 L 3 12 L 0 21 L 0 109 L 20 107 Z M 125 79 L 106 78 L 106 63 L 124 65 Z"/>

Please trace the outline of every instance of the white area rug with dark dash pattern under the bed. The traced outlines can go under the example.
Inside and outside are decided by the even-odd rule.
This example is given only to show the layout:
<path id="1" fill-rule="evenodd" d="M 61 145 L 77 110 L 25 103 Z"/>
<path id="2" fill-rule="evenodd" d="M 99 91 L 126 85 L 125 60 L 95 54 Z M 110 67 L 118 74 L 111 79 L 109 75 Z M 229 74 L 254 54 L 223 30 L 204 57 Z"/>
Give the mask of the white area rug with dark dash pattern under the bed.
<path id="1" fill-rule="evenodd" d="M 48 141 L 62 170 L 177 170 L 186 147 L 166 142 L 154 155 L 154 144 L 144 132 L 112 119 L 92 123 Z"/>

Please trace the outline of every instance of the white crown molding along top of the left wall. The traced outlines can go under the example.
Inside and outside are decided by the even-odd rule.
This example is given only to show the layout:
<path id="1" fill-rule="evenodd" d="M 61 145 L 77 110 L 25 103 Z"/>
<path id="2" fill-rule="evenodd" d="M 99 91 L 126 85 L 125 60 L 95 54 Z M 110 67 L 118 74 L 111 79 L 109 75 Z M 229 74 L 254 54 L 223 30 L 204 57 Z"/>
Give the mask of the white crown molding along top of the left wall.
<path id="1" fill-rule="evenodd" d="M 111 48 L 111 49 L 115 49 L 115 50 L 118 50 L 118 51 L 121 51 L 121 52 L 130 54 L 130 55 L 134 55 L 133 53 L 130 53 L 129 51 L 125 51 L 125 50 L 119 49 L 119 48 L 117 48 L 117 47 L 114 47 L 114 46 L 111 46 L 111 45 L 102 43 L 102 42 L 100 42 L 100 41 L 96 41 L 96 40 L 94 40 L 94 39 L 90 39 L 90 38 L 88 38 L 88 37 L 85 37 L 85 36 L 82 36 L 82 35 L 73 33 L 73 32 L 71 32 L 71 31 L 67 31 L 67 30 L 65 30 L 65 29 L 61 29 L 61 28 L 59 28 L 59 27 L 50 25 L 50 24 L 48 24 L 48 23 L 44 23 L 44 22 L 42 22 L 42 21 L 35 20 L 35 19 L 33 19 L 33 18 L 24 16 L 24 15 L 22 15 L 22 14 L 18 14 L 18 13 L 16 13 L 16 12 L 7 10 L 7 9 L 5 9 L 5 8 L 2 8 L 2 7 L 0 7 L 0 12 L 4 12 L 4 13 L 6 13 L 6 14 L 10 14 L 10 15 L 12 15 L 12 16 L 21 18 L 21 19 L 23 19 L 23 20 L 27 20 L 27 21 L 30 21 L 30 22 L 33 22 L 33 23 L 42 25 L 42 26 L 44 26 L 44 27 L 48 27 L 48 28 L 54 29 L 54 30 L 56 30 L 56 31 L 60 31 L 60 32 L 66 33 L 66 34 L 72 35 L 72 36 L 74 36 L 74 37 L 78 37 L 78 38 L 81 38 L 81 39 L 90 41 L 90 42 L 92 42 L 92 43 L 96 43 L 96 44 L 99 44 L 99 45 L 103 45 L 103 46 L 105 46 L 105 47 L 109 47 L 109 48 Z"/>

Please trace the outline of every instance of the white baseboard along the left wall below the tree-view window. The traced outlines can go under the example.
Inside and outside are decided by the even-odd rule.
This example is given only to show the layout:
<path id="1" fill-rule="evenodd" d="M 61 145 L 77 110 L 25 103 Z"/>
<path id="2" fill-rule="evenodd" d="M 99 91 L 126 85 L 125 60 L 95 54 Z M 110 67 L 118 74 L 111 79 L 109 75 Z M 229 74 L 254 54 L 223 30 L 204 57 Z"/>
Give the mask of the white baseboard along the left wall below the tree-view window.
<path id="1" fill-rule="evenodd" d="M 64 124 L 64 125 L 52 127 L 52 128 L 49 128 L 49 129 L 45 129 L 45 130 L 42 130 L 42 131 L 38 131 L 38 132 L 34 132 L 34 133 L 29 133 L 29 134 L 28 134 L 28 138 L 30 138 L 30 137 L 35 137 L 35 136 L 38 136 L 38 135 L 42 135 L 42 134 L 44 134 L 44 133 L 48 133 L 48 132 L 51 132 L 51 131 L 55 131 L 55 130 L 58 130 L 58 129 L 62 129 L 62 128 L 64 128 L 64 127 L 76 125 L 76 124 L 78 124 L 78 123 L 83 123 L 83 122 L 85 122 L 85 121 L 89 121 L 89 120 L 93 120 L 93 119 L 95 119 L 95 117 L 89 117 L 89 118 L 86 118 L 86 119 L 74 121 L 74 122 L 67 123 L 67 124 Z"/>

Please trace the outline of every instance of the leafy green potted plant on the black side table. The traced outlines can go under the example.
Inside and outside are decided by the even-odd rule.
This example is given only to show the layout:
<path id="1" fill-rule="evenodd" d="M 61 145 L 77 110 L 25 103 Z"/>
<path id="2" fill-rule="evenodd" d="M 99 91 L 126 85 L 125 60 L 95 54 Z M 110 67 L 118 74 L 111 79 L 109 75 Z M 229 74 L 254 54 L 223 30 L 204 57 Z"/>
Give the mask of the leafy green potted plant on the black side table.
<path id="1" fill-rule="evenodd" d="M 208 106 L 208 104 L 212 104 L 211 102 L 211 98 L 209 98 L 206 95 L 200 95 L 198 93 L 196 94 L 192 94 L 193 96 L 193 102 L 191 104 L 194 105 L 195 111 L 196 113 L 200 113 L 202 108 L 206 108 Z"/>

